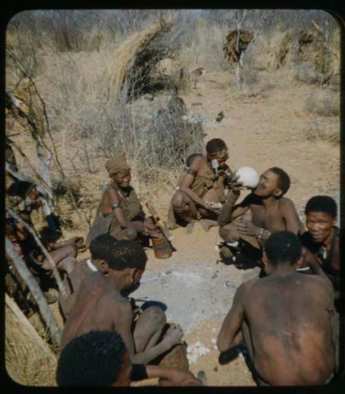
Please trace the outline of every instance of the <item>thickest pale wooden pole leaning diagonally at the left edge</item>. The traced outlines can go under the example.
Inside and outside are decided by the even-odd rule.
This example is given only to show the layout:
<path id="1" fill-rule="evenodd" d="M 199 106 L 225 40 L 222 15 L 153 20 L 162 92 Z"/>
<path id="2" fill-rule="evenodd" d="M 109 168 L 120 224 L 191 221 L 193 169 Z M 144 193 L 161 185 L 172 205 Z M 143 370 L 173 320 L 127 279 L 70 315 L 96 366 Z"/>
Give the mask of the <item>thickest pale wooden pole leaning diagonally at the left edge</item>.
<path id="1" fill-rule="evenodd" d="M 30 270 L 26 266 L 23 259 L 18 255 L 16 250 L 14 250 L 14 247 L 8 237 L 5 237 L 5 244 L 6 253 L 10 256 L 10 259 L 12 260 L 14 266 L 17 268 L 19 275 L 21 275 L 23 281 L 26 282 L 26 284 L 28 285 L 28 288 L 30 289 L 35 301 L 37 302 L 37 305 L 39 306 L 41 316 L 46 322 L 52 335 L 52 341 L 55 342 L 55 344 L 59 344 L 61 340 L 61 330 L 59 328 L 59 325 L 57 324 L 54 315 L 52 314 L 52 311 L 50 311 L 46 297 L 44 297 L 41 288 L 37 284 L 36 279 L 34 279 L 32 273 L 30 273 Z"/>

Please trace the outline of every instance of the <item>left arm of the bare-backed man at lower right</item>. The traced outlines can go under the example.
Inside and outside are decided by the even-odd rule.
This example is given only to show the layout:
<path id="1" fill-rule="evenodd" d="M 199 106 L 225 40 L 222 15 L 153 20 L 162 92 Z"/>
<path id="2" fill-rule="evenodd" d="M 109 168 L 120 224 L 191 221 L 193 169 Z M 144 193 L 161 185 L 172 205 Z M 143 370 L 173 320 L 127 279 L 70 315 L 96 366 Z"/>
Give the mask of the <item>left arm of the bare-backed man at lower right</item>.
<path id="1" fill-rule="evenodd" d="M 244 321 L 243 300 L 246 293 L 246 286 L 248 286 L 248 282 L 242 284 L 237 289 L 233 300 L 233 306 L 221 325 L 217 337 L 217 347 L 220 352 L 228 351 L 232 347 L 233 339 Z"/>

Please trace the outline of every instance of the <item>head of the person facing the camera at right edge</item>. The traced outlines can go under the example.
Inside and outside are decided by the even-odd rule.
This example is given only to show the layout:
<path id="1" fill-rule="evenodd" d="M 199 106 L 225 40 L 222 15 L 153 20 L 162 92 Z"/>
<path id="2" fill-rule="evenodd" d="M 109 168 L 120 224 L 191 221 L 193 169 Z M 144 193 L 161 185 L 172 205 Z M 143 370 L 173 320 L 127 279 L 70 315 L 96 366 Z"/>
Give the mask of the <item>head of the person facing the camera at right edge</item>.
<path id="1" fill-rule="evenodd" d="M 306 226 L 315 242 L 325 242 L 337 224 L 337 203 L 332 197 L 315 196 L 306 203 Z"/>

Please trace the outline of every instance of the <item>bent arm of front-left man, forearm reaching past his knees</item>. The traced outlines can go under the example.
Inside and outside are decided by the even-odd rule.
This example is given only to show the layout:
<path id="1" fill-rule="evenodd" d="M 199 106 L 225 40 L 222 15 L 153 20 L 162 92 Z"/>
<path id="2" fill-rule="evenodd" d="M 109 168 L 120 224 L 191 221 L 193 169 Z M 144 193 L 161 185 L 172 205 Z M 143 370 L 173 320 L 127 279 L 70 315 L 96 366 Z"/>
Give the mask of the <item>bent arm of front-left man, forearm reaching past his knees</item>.
<path id="1" fill-rule="evenodd" d="M 122 339 L 124 339 L 126 348 L 130 353 L 130 360 L 132 363 L 148 364 L 148 362 L 155 359 L 158 355 L 168 351 L 181 339 L 181 331 L 176 328 L 175 331 L 170 331 L 170 335 L 167 333 L 164 339 L 156 346 L 153 346 L 147 351 L 135 353 L 135 344 L 131 332 L 133 318 L 132 306 L 128 300 L 121 302 L 120 305 L 117 304 L 116 306 L 116 308 L 113 308 L 115 330 L 121 335 Z"/>

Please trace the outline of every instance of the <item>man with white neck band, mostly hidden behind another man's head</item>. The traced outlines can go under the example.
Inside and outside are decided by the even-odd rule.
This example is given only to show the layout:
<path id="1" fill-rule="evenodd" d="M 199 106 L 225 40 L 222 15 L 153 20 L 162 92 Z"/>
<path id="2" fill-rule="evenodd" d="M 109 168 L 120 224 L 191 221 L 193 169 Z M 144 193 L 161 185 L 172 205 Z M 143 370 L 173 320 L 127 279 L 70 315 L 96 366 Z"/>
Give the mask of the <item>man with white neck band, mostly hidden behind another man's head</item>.
<path id="1" fill-rule="evenodd" d="M 77 263 L 75 269 L 63 279 L 63 284 L 68 290 L 68 297 L 59 294 L 59 306 L 63 318 L 66 319 L 75 304 L 75 298 L 80 288 L 81 282 L 90 273 L 99 271 L 103 273 L 104 262 L 110 255 L 110 248 L 117 242 L 117 239 L 108 234 L 99 235 L 92 239 L 90 244 L 91 257 L 83 259 Z"/>

